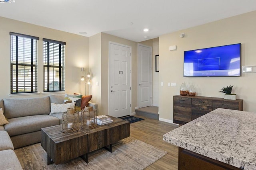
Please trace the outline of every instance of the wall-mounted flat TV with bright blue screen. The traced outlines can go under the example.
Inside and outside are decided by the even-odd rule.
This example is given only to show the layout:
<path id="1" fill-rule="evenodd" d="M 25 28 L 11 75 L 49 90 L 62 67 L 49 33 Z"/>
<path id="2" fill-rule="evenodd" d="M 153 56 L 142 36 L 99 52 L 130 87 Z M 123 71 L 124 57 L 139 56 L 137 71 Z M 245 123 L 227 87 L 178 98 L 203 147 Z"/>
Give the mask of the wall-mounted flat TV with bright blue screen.
<path id="1" fill-rule="evenodd" d="M 240 76 L 241 43 L 184 51 L 184 77 Z"/>

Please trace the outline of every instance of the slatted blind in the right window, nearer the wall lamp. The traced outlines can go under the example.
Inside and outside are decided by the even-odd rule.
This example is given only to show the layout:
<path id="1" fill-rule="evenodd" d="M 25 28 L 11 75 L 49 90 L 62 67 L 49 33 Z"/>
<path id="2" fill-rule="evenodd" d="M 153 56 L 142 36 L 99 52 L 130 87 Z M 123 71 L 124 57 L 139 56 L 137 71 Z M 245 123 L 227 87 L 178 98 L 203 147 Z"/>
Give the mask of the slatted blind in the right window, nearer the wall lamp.
<path id="1" fill-rule="evenodd" d="M 65 91 L 65 42 L 44 41 L 44 92 Z"/>

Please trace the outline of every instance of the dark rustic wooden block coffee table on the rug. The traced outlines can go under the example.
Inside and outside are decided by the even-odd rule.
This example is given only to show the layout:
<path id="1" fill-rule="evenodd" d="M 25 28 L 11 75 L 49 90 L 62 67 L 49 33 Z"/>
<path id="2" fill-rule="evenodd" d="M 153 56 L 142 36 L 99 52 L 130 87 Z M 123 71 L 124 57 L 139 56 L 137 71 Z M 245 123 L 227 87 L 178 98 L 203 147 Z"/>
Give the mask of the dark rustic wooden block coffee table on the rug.
<path id="1" fill-rule="evenodd" d="M 47 165 L 60 164 L 81 156 L 88 163 L 88 153 L 106 147 L 130 136 L 130 122 L 115 117 L 112 123 L 97 125 L 93 129 L 63 133 L 62 125 L 42 128 L 41 146 L 47 153 Z"/>

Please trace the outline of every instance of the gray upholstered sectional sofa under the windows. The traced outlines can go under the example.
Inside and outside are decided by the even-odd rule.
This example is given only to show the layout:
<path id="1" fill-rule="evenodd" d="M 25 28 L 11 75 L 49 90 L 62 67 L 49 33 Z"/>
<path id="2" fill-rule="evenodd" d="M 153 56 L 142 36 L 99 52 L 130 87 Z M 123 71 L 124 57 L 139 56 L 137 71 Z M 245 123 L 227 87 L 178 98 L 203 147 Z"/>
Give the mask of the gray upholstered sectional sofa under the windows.
<path id="1" fill-rule="evenodd" d="M 14 149 L 39 143 L 41 128 L 61 124 L 62 113 L 50 115 L 51 103 L 63 104 L 64 95 L 0 100 L 0 107 L 9 121 L 0 126 L 0 169 L 8 169 L 9 166 L 20 169 Z M 98 108 L 92 102 L 89 105 Z"/>

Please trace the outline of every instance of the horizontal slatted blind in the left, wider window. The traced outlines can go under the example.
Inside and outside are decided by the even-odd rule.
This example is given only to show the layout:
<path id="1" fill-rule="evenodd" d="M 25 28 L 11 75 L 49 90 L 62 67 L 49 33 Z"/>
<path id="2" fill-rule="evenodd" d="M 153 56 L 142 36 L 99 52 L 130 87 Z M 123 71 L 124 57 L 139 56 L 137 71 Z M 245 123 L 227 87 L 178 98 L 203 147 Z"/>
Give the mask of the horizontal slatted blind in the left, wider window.
<path id="1" fill-rule="evenodd" d="M 10 32 L 11 94 L 38 92 L 37 40 L 39 37 Z"/>

